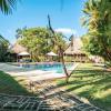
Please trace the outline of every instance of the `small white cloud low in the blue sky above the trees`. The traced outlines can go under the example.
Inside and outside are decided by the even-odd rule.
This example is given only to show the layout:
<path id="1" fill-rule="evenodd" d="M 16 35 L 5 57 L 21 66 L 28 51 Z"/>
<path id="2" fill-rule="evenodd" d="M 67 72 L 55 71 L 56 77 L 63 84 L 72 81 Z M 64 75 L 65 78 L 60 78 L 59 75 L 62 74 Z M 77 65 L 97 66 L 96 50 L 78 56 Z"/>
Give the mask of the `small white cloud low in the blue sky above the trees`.
<path id="1" fill-rule="evenodd" d="M 77 34 L 77 31 L 74 29 L 70 29 L 70 28 L 58 28 L 54 31 L 61 32 L 61 33 L 64 33 L 64 34 Z"/>

